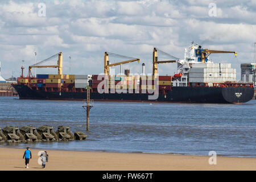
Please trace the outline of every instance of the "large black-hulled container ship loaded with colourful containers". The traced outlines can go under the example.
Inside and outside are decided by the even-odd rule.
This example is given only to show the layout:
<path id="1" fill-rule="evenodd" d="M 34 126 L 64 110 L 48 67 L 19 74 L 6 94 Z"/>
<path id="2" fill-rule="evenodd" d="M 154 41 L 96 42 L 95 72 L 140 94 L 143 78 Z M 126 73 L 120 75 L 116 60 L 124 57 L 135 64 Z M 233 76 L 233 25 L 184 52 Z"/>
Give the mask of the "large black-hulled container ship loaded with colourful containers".
<path id="1" fill-rule="evenodd" d="M 152 74 L 132 75 L 129 70 L 125 74 L 110 75 L 110 67 L 138 61 L 134 57 L 120 63 L 110 64 L 109 56 L 104 53 L 104 74 L 102 75 L 63 75 L 62 53 L 58 53 L 57 65 L 29 67 L 28 76 L 18 78 L 13 85 L 20 99 L 36 100 L 86 100 L 88 92 L 94 101 L 150 101 L 150 102 L 192 102 L 217 104 L 242 104 L 250 101 L 254 95 L 253 82 L 236 81 L 236 69 L 231 64 L 213 63 L 209 60 L 211 53 L 234 53 L 233 51 L 216 51 L 202 49 L 193 44 L 189 52 L 185 49 L 184 59 L 174 56 L 173 60 L 160 61 L 160 51 L 153 49 Z M 119 55 L 120 56 L 120 55 Z M 129 58 L 122 56 L 123 58 Z M 43 60 L 42 62 L 45 62 Z M 159 76 L 158 64 L 177 63 L 177 73 L 172 76 Z M 32 76 L 31 68 L 58 68 L 57 75 Z"/>

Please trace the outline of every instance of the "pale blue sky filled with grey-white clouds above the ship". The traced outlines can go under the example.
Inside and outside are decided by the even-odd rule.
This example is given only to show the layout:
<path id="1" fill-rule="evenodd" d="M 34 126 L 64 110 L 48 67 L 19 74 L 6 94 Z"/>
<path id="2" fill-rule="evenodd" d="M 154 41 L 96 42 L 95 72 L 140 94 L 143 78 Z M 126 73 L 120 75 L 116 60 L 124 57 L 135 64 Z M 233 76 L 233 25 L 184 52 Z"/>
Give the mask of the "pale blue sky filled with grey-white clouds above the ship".
<path id="1" fill-rule="evenodd" d="M 45 5 L 45 6 L 44 6 Z M 44 8 L 45 7 L 45 8 Z M 253 63 L 256 0 L 55 0 L 0 1 L 1 75 L 24 75 L 28 66 L 63 52 L 63 73 L 104 72 L 104 52 L 140 59 L 124 64 L 130 73 L 152 73 L 154 47 L 184 58 L 191 42 L 203 48 L 237 51 L 214 54 L 214 63 L 231 63 L 240 79 L 240 64 Z M 71 59 L 69 59 L 69 56 Z M 24 60 L 24 62 L 22 62 Z M 159 55 L 159 60 L 170 60 Z M 56 64 L 57 59 L 51 64 Z M 110 57 L 110 63 L 123 61 Z M 177 65 L 161 64 L 159 75 L 173 75 Z M 32 70 L 34 74 L 34 70 Z M 119 73 L 119 66 L 115 67 Z M 57 74 L 56 68 L 36 73 Z"/>

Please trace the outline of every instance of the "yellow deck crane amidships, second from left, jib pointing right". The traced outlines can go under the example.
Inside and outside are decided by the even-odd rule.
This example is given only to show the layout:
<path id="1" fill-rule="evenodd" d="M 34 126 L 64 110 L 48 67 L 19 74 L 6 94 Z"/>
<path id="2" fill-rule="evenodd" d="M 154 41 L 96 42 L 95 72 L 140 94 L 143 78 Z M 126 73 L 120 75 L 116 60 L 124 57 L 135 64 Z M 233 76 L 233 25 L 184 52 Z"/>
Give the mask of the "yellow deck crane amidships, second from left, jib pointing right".
<path id="1" fill-rule="evenodd" d="M 118 57 L 118 58 L 122 58 L 122 59 L 130 59 L 130 60 L 121 61 L 119 63 L 109 64 L 109 56 Z M 117 55 L 116 53 L 111 53 L 111 52 L 105 52 L 104 53 L 104 73 L 105 73 L 105 75 L 109 75 L 109 67 L 114 67 L 116 65 L 122 65 L 122 64 L 126 64 L 126 63 L 133 63 L 134 61 L 138 61 L 138 63 L 139 63 L 138 58 Z"/>

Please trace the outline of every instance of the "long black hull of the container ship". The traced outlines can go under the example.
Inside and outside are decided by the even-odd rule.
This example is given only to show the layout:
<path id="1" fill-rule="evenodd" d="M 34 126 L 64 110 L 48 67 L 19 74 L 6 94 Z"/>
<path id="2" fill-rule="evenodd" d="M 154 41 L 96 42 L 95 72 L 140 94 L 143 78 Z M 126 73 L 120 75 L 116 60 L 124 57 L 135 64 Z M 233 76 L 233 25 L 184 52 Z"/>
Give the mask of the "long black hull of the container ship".
<path id="1" fill-rule="evenodd" d="M 13 85 L 20 99 L 32 100 L 86 100 L 86 92 L 45 92 L 32 90 L 27 85 Z M 148 100 L 147 93 L 90 93 L 94 101 L 150 101 L 150 102 L 192 102 L 241 104 L 250 101 L 254 88 L 248 87 L 172 87 L 166 94 L 159 94 L 154 100 Z"/>

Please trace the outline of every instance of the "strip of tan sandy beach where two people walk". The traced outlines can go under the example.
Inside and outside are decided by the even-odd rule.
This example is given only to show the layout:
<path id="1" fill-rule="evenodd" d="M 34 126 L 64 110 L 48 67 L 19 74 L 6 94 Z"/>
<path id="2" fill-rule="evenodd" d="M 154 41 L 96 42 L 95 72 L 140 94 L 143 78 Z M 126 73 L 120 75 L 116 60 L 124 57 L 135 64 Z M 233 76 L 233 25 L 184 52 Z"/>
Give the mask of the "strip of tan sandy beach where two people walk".
<path id="1" fill-rule="evenodd" d="M 233 158 L 217 156 L 217 164 L 208 163 L 210 156 L 186 156 L 164 154 L 136 154 L 118 152 L 57 151 L 47 150 L 49 162 L 42 169 L 38 164 L 38 152 L 31 148 L 30 168 L 24 168 L 20 148 L 0 147 L 1 171 L 105 171 L 105 170 L 256 170 L 256 158 Z"/>

